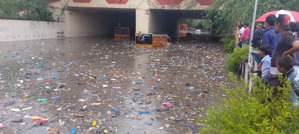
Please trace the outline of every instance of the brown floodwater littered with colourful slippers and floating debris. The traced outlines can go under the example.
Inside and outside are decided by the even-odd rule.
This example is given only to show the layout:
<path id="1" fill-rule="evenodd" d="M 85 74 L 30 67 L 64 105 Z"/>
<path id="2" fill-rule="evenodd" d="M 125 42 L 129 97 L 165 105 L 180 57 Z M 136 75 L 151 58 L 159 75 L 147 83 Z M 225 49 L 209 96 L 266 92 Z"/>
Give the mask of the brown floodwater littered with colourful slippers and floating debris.
<path id="1" fill-rule="evenodd" d="M 102 37 L 0 42 L 0 133 L 196 134 L 205 126 L 196 120 L 225 97 L 218 85 L 231 83 L 222 45 L 208 38 L 170 48 Z"/>

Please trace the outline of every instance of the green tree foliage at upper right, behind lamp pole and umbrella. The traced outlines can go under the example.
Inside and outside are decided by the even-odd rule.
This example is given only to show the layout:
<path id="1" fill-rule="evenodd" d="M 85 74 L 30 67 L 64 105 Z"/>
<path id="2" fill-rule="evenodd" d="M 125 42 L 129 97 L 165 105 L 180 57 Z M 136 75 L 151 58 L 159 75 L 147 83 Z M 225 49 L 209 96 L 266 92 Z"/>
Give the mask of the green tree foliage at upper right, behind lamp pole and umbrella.
<path id="1" fill-rule="evenodd" d="M 298 4 L 298 0 L 259 0 L 256 18 L 279 9 L 299 12 Z M 233 28 L 237 26 L 238 21 L 251 24 L 253 11 L 254 0 L 214 0 L 205 10 L 205 19 L 213 20 L 216 34 L 234 33 Z"/>

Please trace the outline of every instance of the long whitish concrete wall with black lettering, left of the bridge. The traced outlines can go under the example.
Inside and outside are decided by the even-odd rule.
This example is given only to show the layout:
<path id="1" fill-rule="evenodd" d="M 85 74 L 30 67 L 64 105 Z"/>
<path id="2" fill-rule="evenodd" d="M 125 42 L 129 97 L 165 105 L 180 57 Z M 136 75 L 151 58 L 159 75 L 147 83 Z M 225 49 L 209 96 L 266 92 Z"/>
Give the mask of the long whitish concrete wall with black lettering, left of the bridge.
<path id="1" fill-rule="evenodd" d="M 0 20 L 0 42 L 65 38 L 65 22 Z"/>

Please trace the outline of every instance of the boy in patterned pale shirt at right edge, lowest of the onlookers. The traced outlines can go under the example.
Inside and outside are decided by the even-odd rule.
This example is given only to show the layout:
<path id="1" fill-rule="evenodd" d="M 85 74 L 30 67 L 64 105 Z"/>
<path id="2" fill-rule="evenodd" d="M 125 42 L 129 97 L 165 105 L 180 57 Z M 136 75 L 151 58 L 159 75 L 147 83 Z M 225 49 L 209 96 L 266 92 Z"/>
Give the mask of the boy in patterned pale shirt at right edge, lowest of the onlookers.
<path id="1" fill-rule="evenodd" d="M 296 109 L 299 96 L 299 67 L 294 66 L 293 59 L 289 56 L 282 56 L 276 60 L 276 68 L 279 72 L 282 72 L 288 80 L 291 82 L 292 92 L 291 92 L 291 105 L 293 109 Z"/>

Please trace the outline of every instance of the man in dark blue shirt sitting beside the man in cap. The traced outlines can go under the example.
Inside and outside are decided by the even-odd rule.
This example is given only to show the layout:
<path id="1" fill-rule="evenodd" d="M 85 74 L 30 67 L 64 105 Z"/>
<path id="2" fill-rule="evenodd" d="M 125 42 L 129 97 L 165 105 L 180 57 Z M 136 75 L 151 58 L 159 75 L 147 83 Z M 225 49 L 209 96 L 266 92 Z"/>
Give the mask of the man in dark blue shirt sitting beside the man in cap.
<path id="1" fill-rule="evenodd" d="M 271 52 L 269 53 L 269 56 L 272 56 L 272 53 L 277 45 L 277 42 L 279 41 L 281 34 L 280 33 L 275 33 L 275 21 L 276 21 L 276 16 L 275 15 L 269 15 L 266 17 L 265 21 L 265 27 L 266 31 L 263 34 L 263 43 L 262 45 L 270 45 L 271 46 Z M 260 62 L 260 55 L 257 53 L 257 51 L 251 51 L 252 58 L 257 62 L 257 70 L 262 69 L 262 63 Z"/>

